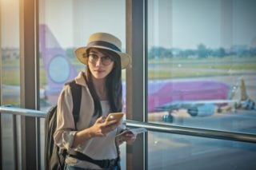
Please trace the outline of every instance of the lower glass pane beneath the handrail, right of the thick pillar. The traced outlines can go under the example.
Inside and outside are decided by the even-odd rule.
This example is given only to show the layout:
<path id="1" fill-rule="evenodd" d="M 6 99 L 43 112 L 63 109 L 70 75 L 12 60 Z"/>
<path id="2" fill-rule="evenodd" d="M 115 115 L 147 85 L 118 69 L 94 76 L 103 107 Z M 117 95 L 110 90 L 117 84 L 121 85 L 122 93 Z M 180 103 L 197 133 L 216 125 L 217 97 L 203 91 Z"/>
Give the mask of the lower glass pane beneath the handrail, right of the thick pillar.
<path id="1" fill-rule="evenodd" d="M 149 132 L 148 169 L 254 169 L 255 144 Z"/>

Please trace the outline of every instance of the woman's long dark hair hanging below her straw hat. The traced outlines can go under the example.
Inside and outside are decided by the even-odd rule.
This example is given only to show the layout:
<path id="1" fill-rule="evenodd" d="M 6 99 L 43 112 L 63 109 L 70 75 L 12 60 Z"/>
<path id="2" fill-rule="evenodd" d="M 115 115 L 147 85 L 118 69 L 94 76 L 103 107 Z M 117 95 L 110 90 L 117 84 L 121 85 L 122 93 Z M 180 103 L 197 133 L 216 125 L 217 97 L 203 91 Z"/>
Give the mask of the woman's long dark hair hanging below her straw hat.
<path id="1" fill-rule="evenodd" d="M 110 112 L 122 112 L 122 79 L 121 79 L 121 59 L 118 56 L 118 53 L 114 53 L 113 51 L 107 49 L 98 49 L 101 53 L 104 53 L 108 56 L 113 57 L 114 66 L 111 72 L 106 77 L 106 90 L 107 90 L 107 98 L 110 101 Z M 88 54 L 90 49 L 87 49 L 84 57 L 88 58 Z M 88 63 L 88 59 L 87 59 Z M 92 81 L 92 74 L 90 73 L 90 69 L 86 66 L 85 73 L 86 84 L 90 89 L 91 96 L 94 99 L 94 116 L 101 117 L 102 116 L 102 105 L 99 100 L 98 94 L 94 88 L 94 84 Z"/>

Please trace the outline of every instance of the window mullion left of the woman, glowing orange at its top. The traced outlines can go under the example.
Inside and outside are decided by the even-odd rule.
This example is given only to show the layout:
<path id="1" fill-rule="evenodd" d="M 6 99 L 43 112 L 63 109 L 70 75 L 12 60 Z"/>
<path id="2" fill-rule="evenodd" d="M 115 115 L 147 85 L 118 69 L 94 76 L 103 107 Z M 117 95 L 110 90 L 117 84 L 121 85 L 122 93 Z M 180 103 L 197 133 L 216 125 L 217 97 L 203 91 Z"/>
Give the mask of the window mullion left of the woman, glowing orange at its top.
<path id="1" fill-rule="evenodd" d="M 38 109 L 38 0 L 20 1 L 21 106 Z M 21 117 L 22 169 L 38 169 L 37 127 L 34 117 Z"/>

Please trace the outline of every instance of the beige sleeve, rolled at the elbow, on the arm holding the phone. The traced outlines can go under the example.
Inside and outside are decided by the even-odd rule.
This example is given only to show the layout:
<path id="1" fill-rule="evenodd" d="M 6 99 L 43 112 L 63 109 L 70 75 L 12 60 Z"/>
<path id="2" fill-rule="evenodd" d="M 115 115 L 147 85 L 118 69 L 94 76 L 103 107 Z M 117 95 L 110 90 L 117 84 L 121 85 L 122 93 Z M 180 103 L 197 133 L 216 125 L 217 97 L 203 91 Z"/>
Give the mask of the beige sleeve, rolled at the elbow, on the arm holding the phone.
<path id="1" fill-rule="evenodd" d="M 58 97 L 57 109 L 57 125 L 54 132 L 54 142 L 60 148 L 70 150 L 74 136 L 77 131 L 74 131 L 74 117 L 73 117 L 73 101 L 69 85 L 65 85 L 62 93 Z"/>

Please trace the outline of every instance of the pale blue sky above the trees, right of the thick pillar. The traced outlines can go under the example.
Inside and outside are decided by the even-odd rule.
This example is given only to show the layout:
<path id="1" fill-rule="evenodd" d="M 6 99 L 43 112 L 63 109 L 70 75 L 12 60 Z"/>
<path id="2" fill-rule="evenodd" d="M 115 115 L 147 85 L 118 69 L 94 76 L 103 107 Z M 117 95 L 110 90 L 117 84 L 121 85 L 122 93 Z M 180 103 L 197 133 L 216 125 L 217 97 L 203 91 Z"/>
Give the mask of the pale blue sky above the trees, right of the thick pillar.
<path id="1" fill-rule="evenodd" d="M 150 0 L 149 44 L 194 49 L 251 45 L 256 38 L 254 0 Z M 256 46 L 256 42 L 254 42 Z"/>

